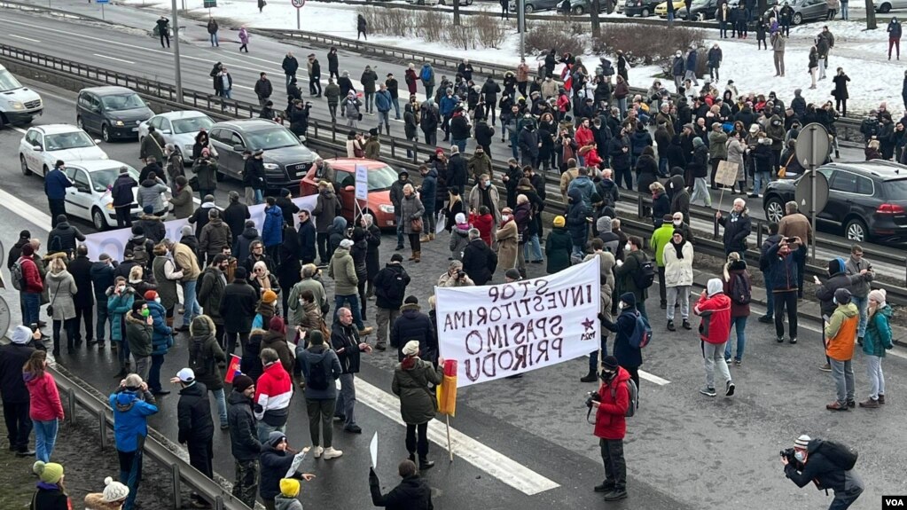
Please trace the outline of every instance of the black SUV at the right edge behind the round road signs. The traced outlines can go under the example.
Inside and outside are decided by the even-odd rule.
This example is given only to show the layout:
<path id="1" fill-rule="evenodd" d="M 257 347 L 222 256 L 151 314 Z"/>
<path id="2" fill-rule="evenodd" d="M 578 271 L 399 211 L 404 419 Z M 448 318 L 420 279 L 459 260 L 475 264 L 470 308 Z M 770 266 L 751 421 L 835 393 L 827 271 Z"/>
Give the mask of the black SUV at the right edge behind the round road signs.
<path id="1" fill-rule="evenodd" d="M 907 240 L 907 166 L 883 160 L 834 162 L 819 172 L 828 179 L 829 191 L 818 223 L 844 230 L 844 237 L 858 242 Z M 794 200 L 796 182 L 768 184 L 762 199 L 768 221 L 781 221 L 785 203 Z"/>

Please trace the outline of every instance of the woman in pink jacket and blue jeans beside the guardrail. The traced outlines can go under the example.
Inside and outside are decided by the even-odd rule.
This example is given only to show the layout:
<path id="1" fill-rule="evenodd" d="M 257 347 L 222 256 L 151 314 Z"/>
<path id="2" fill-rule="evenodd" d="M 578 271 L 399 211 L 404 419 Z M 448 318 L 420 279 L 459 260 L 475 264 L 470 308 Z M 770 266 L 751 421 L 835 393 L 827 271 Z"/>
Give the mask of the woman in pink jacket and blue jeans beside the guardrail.
<path id="1" fill-rule="evenodd" d="M 29 416 L 34 424 L 34 457 L 50 462 L 54 453 L 57 426 L 63 420 L 63 404 L 54 377 L 45 371 L 47 353 L 35 350 L 22 368 L 22 378 L 30 397 Z"/>

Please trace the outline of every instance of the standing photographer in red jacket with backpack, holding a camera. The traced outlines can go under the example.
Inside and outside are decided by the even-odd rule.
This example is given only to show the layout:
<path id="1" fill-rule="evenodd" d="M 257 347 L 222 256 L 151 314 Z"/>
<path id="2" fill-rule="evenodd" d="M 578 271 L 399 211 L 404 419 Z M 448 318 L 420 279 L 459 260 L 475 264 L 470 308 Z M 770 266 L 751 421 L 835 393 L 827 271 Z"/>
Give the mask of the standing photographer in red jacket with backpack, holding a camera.
<path id="1" fill-rule="evenodd" d="M 627 409 L 630 406 L 629 372 L 619 367 L 618 358 L 601 360 L 601 386 L 590 393 L 586 405 L 595 407 L 595 436 L 599 437 L 601 460 L 605 463 L 605 481 L 595 486 L 605 501 L 627 497 L 627 462 L 623 456 L 623 438 L 627 435 Z"/>

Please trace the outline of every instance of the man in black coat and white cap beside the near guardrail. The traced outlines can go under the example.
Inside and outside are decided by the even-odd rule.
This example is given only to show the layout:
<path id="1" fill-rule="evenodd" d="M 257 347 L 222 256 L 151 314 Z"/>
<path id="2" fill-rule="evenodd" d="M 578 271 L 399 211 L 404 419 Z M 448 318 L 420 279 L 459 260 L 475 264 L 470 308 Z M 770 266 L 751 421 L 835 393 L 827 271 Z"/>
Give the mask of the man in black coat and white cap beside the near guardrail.
<path id="1" fill-rule="evenodd" d="M 209 478 L 214 477 L 211 460 L 214 458 L 214 420 L 211 419 L 211 404 L 208 388 L 195 380 L 191 368 L 182 368 L 172 382 L 180 384 L 180 401 L 176 406 L 179 425 L 178 440 L 189 450 L 189 464 Z M 200 495 L 192 499 L 204 502 Z"/>

